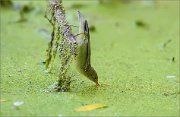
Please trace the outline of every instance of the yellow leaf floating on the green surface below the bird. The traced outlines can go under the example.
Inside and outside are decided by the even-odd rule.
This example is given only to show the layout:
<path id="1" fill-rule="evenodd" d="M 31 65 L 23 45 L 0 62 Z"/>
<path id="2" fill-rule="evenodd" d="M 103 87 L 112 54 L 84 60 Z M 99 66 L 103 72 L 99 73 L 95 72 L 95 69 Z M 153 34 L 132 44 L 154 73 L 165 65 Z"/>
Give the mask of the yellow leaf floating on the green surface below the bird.
<path id="1" fill-rule="evenodd" d="M 94 109 L 98 109 L 98 108 L 105 108 L 107 107 L 107 105 L 104 104 L 90 104 L 90 105 L 86 105 L 86 106 L 81 106 L 77 109 L 75 109 L 76 112 L 83 112 L 83 111 L 91 111 Z"/>

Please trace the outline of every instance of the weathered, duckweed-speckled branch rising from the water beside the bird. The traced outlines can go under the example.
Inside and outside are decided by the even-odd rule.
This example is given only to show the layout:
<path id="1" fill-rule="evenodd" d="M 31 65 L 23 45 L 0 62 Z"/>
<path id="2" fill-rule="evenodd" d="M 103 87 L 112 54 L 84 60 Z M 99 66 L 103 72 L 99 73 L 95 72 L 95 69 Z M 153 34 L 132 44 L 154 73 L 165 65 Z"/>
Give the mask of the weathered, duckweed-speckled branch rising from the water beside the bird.
<path id="1" fill-rule="evenodd" d="M 76 56 L 76 37 L 72 34 L 71 26 L 65 17 L 65 10 L 62 0 L 49 0 L 45 18 L 52 25 L 51 41 L 48 44 L 45 67 L 49 71 L 56 57 L 59 54 L 60 70 L 56 86 L 57 91 L 69 91 L 71 76 L 68 74 L 70 63 Z"/>

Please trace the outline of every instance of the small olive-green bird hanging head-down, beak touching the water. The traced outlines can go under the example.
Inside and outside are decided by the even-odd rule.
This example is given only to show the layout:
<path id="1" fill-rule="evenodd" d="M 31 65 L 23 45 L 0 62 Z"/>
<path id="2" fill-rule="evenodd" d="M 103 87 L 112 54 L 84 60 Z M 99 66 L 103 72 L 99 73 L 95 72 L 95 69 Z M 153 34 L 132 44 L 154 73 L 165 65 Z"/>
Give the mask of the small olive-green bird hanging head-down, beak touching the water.
<path id="1" fill-rule="evenodd" d="M 87 20 L 78 11 L 79 34 L 77 37 L 77 56 L 75 58 L 78 71 L 99 86 L 98 75 L 91 66 L 90 34 Z"/>

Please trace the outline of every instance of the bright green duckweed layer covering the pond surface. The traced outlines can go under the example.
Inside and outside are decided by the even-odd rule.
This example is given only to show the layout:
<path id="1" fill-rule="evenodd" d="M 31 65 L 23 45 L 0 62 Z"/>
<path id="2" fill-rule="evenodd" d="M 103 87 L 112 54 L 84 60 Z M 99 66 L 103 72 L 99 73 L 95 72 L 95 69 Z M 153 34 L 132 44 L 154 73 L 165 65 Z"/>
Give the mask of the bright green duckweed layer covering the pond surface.
<path id="1" fill-rule="evenodd" d="M 81 12 L 96 26 L 91 33 L 92 65 L 101 86 L 97 89 L 72 68 L 74 81 L 67 93 L 44 91 L 57 81 L 59 70 L 58 59 L 51 74 L 40 64 L 49 40 L 39 30 L 51 31 L 44 14 L 29 13 L 27 22 L 12 23 L 18 12 L 0 9 L 1 99 L 8 100 L 1 102 L 1 116 L 179 116 L 179 3 L 164 1 L 156 7 L 135 3 L 113 9 L 95 3 L 88 2 Z M 45 11 L 44 1 L 33 5 Z M 67 10 L 73 25 L 74 13 Z M 137 27 L 137 20 L 148 28 Z M 167 79 L 170 75 L 176 78 Z M 13 107 L 16 101 L 24 101 L 19 110 Z M 92 103 L 108 108 L 74 112 Z"/>

